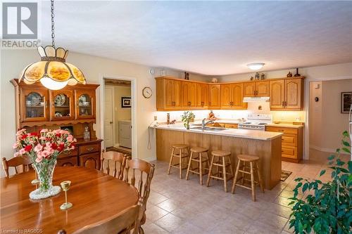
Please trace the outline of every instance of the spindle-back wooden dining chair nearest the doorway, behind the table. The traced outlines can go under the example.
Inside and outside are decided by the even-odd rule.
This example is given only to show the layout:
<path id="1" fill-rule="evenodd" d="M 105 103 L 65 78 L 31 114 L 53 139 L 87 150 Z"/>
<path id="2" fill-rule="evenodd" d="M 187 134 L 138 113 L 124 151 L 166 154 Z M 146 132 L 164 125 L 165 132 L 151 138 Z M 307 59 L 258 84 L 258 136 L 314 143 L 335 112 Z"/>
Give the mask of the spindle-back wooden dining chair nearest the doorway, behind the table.
<path id="1" fill-rule="evenodd" d="M 108 151 L 101 154 L 101 167 L 100 171 L 110 174 L 111 162 L 113 162 L 113 176 L 122 180 L 123 171 L 125 170 L 126 159 L 128 155 L 122 154 L 121 152 Z M 106 162 L 106 168 L 104 171 L 104 162 Z"/>

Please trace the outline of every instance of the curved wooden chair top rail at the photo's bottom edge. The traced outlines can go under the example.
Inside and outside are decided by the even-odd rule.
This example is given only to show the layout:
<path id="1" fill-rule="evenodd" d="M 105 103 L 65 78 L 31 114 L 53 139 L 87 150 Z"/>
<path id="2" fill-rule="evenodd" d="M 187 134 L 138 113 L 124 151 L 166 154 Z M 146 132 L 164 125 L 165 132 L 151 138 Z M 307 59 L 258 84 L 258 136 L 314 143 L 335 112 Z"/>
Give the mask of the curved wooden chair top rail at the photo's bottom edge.
<path id="1" fill-rule="evenodd" d="M 138 233 L 138 217 L 140 205 L 135 204 L 108 219 L 84 226 L 73 234 L 127 234 L 133 229 L 133 234 Z"/>

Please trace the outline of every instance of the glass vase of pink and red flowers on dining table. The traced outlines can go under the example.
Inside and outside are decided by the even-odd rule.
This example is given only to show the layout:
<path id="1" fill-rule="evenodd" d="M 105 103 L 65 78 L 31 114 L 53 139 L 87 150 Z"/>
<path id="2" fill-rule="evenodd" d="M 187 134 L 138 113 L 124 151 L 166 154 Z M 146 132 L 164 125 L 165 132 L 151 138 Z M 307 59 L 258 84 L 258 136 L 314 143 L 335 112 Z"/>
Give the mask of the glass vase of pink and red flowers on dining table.
<path id="1" fill-rule="evenodd" d="M 60 193 L 61 188 L 52 183 L 56 159 L 61 152 L 73 150 L 76 139 L 69 131 L 61 129 L 42 129 L 39 134 L 20 129 L 16 139 L 13 148 L 17 148 L 18 152 L 15 152 L 15 157 L 27 155 L 39 178 L 39 188 L 30 193 L 30 198 L 42 199 Z"/>

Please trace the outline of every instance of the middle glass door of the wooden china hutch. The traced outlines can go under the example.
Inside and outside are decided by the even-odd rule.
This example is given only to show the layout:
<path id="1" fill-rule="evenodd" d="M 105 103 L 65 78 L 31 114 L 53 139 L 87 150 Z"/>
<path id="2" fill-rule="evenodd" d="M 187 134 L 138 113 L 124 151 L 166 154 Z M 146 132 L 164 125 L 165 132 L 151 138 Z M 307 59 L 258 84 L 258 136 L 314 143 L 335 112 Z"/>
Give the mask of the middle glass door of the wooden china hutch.
<path id="1" fill-rule="evenodd" d="M 73 91 L 51 91 L 51 119 L 73 119 Z"/>

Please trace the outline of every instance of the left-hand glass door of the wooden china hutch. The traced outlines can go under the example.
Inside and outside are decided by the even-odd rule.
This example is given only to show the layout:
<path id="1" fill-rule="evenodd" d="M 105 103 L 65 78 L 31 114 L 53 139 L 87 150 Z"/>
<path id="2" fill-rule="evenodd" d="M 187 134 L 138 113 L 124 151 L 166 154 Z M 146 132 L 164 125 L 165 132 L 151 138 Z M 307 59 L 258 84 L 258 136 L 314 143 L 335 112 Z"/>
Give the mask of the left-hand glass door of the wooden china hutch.
<path id="1" fill-rule="evenodd" d="M 20 98 L 23 100 L 21 108 L 21 121 L 47 121 L 48 120 L 48 91 L 42 89 L 22 89 Z"/>

